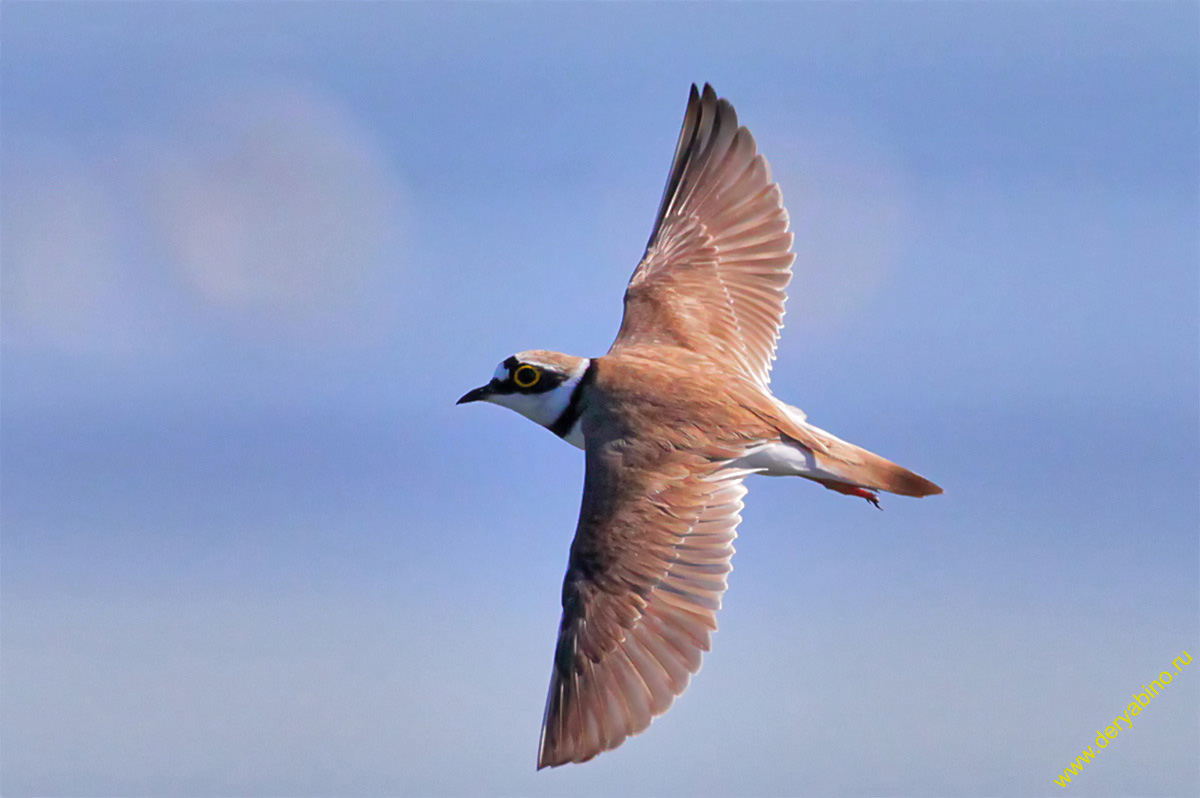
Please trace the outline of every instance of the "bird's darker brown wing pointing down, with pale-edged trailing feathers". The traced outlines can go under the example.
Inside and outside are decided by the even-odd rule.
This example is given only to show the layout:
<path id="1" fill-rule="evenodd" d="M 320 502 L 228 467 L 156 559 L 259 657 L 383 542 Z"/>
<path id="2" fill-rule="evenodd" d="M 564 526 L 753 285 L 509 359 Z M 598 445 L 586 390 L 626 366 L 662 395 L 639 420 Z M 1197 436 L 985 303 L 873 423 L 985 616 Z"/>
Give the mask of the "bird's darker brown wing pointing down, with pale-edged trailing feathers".
<path id="1" fill-rule="evenodd" d="M 538 767 L 617 748 L 666 712 L 716 629 L 744 472 L 588 440 Z"/>

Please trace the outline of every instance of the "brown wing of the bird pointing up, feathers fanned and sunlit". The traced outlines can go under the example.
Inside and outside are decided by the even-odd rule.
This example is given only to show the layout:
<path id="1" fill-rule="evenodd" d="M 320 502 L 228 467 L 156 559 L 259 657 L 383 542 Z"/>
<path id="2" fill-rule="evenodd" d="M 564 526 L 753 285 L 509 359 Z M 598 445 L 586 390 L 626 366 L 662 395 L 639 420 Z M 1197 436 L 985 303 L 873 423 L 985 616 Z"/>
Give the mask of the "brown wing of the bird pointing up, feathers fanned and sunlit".
<path id="1" fill-rule="evenodd" d="M 654 233 L 625 290 L 613 349 L 671 343 L 766 386 L 792 278 L 779 186 L 750 131 L 713 88 L 692 85 Z"/>

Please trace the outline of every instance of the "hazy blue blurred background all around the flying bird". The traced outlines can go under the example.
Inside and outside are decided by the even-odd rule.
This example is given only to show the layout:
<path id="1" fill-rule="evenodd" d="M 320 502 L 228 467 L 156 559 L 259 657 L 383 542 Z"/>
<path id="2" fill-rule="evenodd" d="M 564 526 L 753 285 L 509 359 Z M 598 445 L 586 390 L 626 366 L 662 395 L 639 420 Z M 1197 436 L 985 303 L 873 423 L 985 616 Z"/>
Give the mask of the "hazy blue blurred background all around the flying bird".
<path id="1" fill-rule="evenodd" d="M 1067 792 L 1200 649 L 1194 4 L 6 4 L 5 794 Z M 776 394 L 943 485 L 755 479 L 652 728 L 534 773 L 601 354 L 686 90 L 797 233 Z M 1200 670 L 1068 788 L 1190 794 Z"/>

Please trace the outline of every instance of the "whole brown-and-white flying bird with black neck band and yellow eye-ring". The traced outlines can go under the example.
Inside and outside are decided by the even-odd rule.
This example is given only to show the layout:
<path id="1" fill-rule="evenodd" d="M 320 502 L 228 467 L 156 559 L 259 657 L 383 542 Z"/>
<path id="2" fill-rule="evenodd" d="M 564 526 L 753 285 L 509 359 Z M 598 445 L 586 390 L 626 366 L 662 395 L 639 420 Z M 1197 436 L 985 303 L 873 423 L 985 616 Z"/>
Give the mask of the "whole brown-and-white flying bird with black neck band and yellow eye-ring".
<path id="1" fill-rule="evenodd" d="M 644 731 L 700 670 L 745 478 L 800 476 L 876 506 L 880 491 L 942 492 L 772 394 L 792 244 L 754 137 L 692 84 L 612 347 L 520 352 L 457 402 L 510 408 L 584 451 L 539 770 Z"/>

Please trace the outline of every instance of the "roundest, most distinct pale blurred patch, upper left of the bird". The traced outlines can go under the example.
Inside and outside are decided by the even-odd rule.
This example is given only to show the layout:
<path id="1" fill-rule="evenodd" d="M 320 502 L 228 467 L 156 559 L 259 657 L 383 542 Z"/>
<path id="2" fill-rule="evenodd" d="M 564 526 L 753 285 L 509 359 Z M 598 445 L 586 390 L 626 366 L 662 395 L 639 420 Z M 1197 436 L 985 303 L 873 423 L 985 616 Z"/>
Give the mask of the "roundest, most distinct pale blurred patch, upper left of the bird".
<path id="1" fill-rule="evenodd" d="M 367 131 L 311 94 L 227 98 L 161 166 L 158 229 L 215 305 L 320 312 L 348 301 L 392 244 L 388 164 Z"/>

